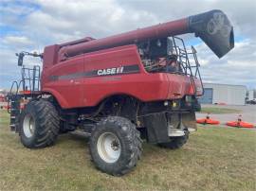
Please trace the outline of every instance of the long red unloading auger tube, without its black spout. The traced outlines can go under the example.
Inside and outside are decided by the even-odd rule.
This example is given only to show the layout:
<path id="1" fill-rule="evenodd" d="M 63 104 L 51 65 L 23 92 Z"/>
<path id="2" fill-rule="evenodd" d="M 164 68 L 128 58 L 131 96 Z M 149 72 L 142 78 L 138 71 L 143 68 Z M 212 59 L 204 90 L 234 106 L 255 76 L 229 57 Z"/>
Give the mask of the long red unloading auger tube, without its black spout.
<path id="1" fill-rule="evenodd" d="M 95 40 L 91 37 L 69 43 L 54 44 L 45 47 L 44 67 L 50 67 L 59 61 L 65 61 L 68 57 L 81 55 L 84 52 L 92 52 L 121 45 L 134 44 L 150 39 L 174 36 L 190 32 L 188 18 L 149 26 L 111 37 Z M 67 57 L 68 55 L 68 57 Z"/>

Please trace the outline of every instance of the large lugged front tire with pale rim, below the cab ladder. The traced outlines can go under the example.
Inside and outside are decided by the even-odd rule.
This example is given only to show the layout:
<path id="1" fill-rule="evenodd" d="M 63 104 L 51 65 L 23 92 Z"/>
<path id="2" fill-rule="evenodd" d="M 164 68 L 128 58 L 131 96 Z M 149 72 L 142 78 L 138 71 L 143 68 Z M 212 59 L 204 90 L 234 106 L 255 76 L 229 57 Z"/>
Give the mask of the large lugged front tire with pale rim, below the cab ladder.
<path id="1" fill-rule="evenodd" d="M 30 101 L 20 118 L 22 144 L 27 148 L 52 146 L 59 133 L 59 123 L 58 112 L 49 101 Z"/>

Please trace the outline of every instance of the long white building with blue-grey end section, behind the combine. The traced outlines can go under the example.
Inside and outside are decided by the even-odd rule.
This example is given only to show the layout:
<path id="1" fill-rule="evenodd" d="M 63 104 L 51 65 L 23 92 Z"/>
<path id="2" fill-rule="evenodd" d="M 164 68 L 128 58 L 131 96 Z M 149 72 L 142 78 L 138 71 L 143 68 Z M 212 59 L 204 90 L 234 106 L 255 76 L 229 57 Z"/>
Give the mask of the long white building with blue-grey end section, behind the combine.
<path id="1" fill-rule="evenodd" d="M 229 85 L 219 83 L 204 83 L 205 94 L 201 103 L 222 103 L 228 105 L 245 105 L 247 87 L 243 85 Z"/>

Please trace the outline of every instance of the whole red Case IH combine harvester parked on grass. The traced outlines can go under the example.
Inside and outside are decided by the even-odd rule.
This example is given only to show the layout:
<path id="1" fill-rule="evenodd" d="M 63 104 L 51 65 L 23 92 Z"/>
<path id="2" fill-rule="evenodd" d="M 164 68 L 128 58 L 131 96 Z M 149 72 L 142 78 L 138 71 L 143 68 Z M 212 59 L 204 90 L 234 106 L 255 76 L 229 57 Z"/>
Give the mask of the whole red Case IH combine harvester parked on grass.
<path id="1" fill-rule="evenodd" d="M 185 33 L 200 37 L 219 58 L 234 46 L 229 19 L 211 10 L 99 40 L 49 45 L 41 55 L 17 54 L 22 79 L 9 92 L 10 129 L 27 148 L 84 130 L 95 165 L 116 176 L 137 165 L 142 139 L 181 148 L 196 130 L 203 95 L 196 51 L 175 37 Z M 43 59 L 42 73 L 23 65 L 25 55 Z"/>

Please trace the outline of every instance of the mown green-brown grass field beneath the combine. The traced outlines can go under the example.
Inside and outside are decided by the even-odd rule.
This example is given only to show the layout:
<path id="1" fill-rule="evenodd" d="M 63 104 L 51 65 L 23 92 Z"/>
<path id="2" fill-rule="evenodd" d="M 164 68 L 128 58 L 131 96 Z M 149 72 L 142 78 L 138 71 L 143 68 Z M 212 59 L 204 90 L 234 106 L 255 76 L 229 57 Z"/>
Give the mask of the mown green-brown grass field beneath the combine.
<path id="1" fill-rule="evenodd" d="M 87 139 L 61 135 L 51 148 L 27 149 L 0 113 L 0 190 L 255 190 L 256 130 L 200 126 L 187 145 L 143 144 L 137 167 L 123 177 L 97 170 Z"/>

